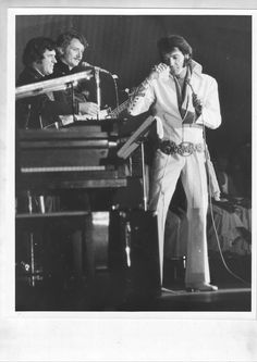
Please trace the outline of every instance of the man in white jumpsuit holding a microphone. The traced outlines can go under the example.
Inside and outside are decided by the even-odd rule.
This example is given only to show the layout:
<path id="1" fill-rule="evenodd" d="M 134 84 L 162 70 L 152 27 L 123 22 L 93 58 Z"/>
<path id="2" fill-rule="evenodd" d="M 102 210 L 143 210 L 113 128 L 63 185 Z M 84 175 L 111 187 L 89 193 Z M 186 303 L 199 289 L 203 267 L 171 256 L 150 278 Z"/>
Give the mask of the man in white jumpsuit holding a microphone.
<path id="1" fill-rule="evenodd" d="M 158 41 L 161 63 L 133 95 L 128 113 L 150 107 L 157 120 L 158 148 L 151 170 L 149 209 L 158 214 L 160 278 L 163 278 L 164 225 L 181 176 L 187 200 L 187 259 L 185 287 L 213 291 L 207 254 L 208 187 L 205 128 L 221 124 L 218 85 L 192 60 L 192 48 L 181 36 Z"/>

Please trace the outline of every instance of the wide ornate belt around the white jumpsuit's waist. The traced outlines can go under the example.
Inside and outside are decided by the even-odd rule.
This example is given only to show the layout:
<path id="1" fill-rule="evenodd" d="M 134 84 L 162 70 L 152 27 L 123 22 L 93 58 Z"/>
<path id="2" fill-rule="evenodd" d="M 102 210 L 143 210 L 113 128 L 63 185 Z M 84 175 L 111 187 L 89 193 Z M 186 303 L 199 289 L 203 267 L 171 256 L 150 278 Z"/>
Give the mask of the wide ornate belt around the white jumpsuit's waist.
<path id="1" fill-rule="evenodd" d="M 193 143 L 186 141 L 176 145 L 169 139 L 163 139 L 159 141 L 159 149 L 166 154 L 179 153 L 181 155 L 187 157 L 194 152 L 204 152 L 205 147 L 203 143 Z"/>

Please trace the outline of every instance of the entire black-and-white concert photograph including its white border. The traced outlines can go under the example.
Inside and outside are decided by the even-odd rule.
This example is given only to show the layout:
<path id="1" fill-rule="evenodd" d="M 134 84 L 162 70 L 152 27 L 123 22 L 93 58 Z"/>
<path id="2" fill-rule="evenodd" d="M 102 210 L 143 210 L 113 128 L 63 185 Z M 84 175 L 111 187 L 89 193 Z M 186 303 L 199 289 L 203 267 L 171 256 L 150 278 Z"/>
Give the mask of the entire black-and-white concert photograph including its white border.
<path id="1" fill-rule="evenodd" d="M 60 319 L 68 345 L 70 322 L 98 349 L 108 333 L 84 319 L 156 317 L 166 342 L 168 321 L 181 340 L 193 320 L 196 357 L 164 341 L 124 355 L 123 335 L 111 360 L 254 361 L 256 12 L 127 8 L 9 9 L 3 314 L 48 340 Z M 216 319 L 240 330 L 227 354 L 194 345 L 204 320 L 225 348 Z M 106 360 L 48 342 L 44 361 Z M 34 355 L 19 346 L 4 360 Z"/>

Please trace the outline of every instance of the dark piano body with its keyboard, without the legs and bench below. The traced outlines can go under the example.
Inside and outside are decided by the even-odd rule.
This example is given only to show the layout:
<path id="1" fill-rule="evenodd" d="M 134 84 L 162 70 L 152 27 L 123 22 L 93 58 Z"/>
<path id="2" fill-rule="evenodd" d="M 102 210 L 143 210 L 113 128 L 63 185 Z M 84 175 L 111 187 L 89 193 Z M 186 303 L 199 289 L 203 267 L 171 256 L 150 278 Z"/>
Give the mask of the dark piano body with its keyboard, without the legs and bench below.
<path id="1" fill-rule="evenodd" d="M 17 130 L 17 188 L 125 187 L 128 174 L 117 155 L 119 146 L 117 120 L 77 122 L 60 129 Z"/>

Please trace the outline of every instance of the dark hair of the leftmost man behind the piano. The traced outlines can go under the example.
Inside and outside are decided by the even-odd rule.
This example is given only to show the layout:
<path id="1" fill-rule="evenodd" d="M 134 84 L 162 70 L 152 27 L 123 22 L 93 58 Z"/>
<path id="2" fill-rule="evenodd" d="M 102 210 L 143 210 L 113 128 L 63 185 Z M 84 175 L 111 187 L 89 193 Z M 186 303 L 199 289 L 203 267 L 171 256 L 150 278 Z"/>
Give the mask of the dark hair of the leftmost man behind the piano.
<path id="1" fill-rule="evenodd" d="M 23 52 L 23 63 L 25 66 L 32 65 L 33 62 L 44 59 L 46 50 L 56 50 L 56 43 L 50 38 L 38 37 L 30 39 Z"/>

